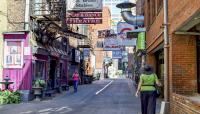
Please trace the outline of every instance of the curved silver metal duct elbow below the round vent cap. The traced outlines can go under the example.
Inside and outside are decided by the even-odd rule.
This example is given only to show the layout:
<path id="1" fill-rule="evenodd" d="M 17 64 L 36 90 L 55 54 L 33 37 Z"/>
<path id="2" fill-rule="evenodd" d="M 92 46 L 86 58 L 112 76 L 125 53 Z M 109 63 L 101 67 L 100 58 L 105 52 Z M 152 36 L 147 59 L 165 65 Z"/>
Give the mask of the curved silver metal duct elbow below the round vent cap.
<path id="1" fill-rule="evenodd" d="M 144 25 L 144 16 L 142 15 L 133 15 L 131 11 L 122 11 L 122 18 L 125 22 L 131 25 Z"/>

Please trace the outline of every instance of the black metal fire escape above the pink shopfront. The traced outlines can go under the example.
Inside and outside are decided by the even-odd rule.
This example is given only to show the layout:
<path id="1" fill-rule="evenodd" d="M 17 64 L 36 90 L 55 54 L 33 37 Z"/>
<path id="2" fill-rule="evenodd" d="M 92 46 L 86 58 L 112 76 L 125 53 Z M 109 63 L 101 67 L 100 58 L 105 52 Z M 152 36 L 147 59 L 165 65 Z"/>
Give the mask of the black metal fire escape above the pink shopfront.
<path id="1" fill-rule="evenodd" d="M 31 29 L 38 41 L 48 43 L 60 37 L 78 39 L 86 36 L 71 31 L 66 24 L 65 0 L 32 0 Z M 45 39 L 43 36 L 50 39 Z"/>

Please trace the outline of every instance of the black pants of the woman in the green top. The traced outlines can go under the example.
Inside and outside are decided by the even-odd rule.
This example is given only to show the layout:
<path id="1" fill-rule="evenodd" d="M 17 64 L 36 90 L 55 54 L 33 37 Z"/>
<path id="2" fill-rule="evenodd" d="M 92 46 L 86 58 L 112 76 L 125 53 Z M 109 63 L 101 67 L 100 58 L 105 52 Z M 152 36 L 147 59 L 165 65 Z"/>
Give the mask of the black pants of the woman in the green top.
<path id="1" fill-rule="evenodd" d="M 141 91 L 142 114 L 156 114 L 156 91 Z"/>

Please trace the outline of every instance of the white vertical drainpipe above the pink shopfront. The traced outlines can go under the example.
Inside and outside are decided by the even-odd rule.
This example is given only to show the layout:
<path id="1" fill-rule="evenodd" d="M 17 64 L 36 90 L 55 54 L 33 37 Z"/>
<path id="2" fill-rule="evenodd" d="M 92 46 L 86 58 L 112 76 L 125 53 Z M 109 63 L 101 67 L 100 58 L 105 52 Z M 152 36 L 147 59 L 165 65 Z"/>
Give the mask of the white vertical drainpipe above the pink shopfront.
<path id="1" fill-rule="evenodd" d="M 26 0 L 25 4 L 25 18 L 24 18 L 24 30 L 29 30 L 29 12 L 30 12 L 30 0 Z"/>

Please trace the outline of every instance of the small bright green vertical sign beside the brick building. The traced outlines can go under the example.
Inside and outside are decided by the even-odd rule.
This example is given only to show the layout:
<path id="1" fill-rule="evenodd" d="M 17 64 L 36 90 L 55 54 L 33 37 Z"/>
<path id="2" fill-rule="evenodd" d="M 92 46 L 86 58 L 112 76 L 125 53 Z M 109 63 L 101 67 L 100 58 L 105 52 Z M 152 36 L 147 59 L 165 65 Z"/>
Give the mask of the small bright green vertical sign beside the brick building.
<path id="1" fill-rule="evenodd" d="M 138 34 L 136 48 L 137 48 L 137 50 L 145 49 L 145 32 L 141 32 Z"/>

